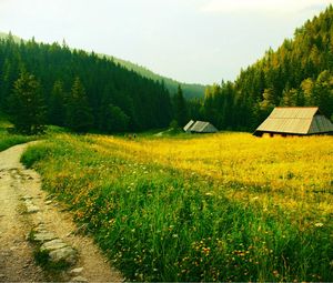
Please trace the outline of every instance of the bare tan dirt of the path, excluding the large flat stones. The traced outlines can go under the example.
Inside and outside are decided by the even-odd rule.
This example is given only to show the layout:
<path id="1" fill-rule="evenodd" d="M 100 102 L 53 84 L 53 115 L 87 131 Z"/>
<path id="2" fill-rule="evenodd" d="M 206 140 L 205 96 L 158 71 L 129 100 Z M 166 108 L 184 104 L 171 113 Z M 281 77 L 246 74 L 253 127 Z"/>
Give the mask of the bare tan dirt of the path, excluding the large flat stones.
<path id="1" fill-rule="evenodd" d="M 20 164 L 27 146 L 16 145 L 0 152 L 0 282 L 75 281 L 75 277 L 85 282 L 123 281 L 91 239 L 74 233 L 71 214 L 41 190 L 37 172 Z M 24 199 L 37 210 L 27 213 Z M 78 251 L 78 262 L 72 266 L 75 273 L 67 271 L 56 279 L 36 265 L 34 246 L 27 235 L 40 223 Z"/>

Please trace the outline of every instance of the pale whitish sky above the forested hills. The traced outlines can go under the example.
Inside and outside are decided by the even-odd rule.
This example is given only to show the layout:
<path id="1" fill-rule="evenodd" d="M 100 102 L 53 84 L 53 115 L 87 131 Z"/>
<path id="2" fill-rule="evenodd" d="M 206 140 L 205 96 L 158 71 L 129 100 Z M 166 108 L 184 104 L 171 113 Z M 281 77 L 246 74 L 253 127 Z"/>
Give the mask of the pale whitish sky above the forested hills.
<path id="1" fill-rule="evenodd" d="M 333 0 L 0 0 L 0 31 L 203 84 L 235 80 Z"/>

